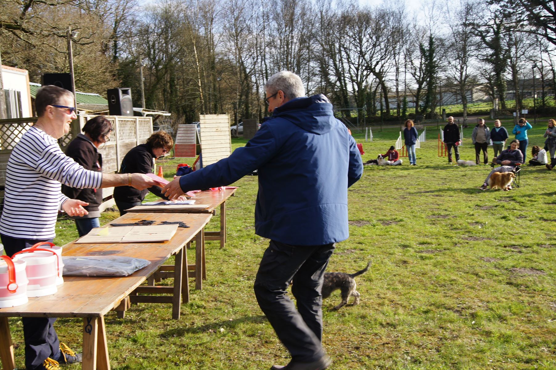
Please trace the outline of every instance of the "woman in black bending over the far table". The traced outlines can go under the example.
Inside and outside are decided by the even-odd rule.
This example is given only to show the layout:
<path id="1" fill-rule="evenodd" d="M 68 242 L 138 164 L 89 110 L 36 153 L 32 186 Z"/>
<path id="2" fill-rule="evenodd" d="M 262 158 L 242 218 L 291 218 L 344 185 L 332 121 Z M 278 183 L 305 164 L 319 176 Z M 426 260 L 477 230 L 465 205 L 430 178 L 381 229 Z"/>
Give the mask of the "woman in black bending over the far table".
<path id="1" fill-rule="evenodd" d="M 168 135 L 165 131 L 154 132 L 147 139 L 145 144 L 137 145 L 127 152 L 125 157 L 123 157 L 120 173 L 152 173 L 155 169 L 155 160 L 169 152 L 172 146 L 172 136 Z M 114 188 L 114 200 L 116 201 L 116 206 L 120 210 L 120 215 L 126 214 L 126 210 L 128 209 L 140 205 L 147 195 L 147 190 L 160 198 L 168 200 L 168 198 L 162 194 L 162 189 L 156 185 L 145 190 L 137 190 L 131 186 L 119 186 L 118 188 Z"/>

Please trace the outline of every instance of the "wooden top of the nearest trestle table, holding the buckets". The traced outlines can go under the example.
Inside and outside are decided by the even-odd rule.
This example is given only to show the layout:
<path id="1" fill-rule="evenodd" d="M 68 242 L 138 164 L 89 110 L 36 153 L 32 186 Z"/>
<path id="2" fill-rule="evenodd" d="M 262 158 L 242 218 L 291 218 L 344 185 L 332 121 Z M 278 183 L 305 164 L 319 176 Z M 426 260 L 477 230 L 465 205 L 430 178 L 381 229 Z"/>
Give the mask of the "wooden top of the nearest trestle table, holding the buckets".
<path id="1" fill-rule="evenodd" d="M 0 317 L 100 317 L 141 285 L 170 255 L 180 251 L 209 222 L 211 216 L 168 213 L 123 215 L 112 223 L 183 221 L 190 228 L 178 228 L 172 240 L 162 243 L 68 243 L 63 247 L 64 256 L 130 256 L 147 259 L 151 264 L 127 277 L 64 277 L 57 293 L 29 298 L 28 303 L 17 307 L 1 308 Z"/>

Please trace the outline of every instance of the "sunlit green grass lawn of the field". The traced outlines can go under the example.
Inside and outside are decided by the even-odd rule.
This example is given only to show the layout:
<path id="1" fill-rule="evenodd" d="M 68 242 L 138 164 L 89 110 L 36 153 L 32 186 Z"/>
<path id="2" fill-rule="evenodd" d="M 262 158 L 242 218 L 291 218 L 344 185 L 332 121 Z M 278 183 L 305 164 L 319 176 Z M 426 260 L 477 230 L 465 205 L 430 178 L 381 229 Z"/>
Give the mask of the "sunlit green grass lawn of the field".
<path id="1" fill-rule="evenodd" d="M 546 120 L 539 122 L 529 147 L 543 146 Z M 511 132 L 513 125 L 504 126 Z M 465 160 L 474 160 L 471 129 L 461 146 Z M 356 135 L 363 160 L 384 153 L 398 132 L 373 132 L 373 142 Z M 521 188 L 480 191 L 491 168 L 448 165 L 437 156 L 437 135 L 429 128 L 418 166 L 407 159 L 367 166 L 349 189 L 350 238 L 337 244 L 328 270 L 373 265 L 356 278 L 360 305 L 335 312 L 339 293 L 324 301 L 330 369 L 556 369 L 556 172 L 524 166 Z M 168 179 L 180 161 L 163 164 Z M 252 292 L 267 246 L 254 230 L 257 177 L 235 185 L 226 248 L 207 242 L 208 280 L 201 291 L 190 283 L 182 318 L 154 304 L 133 306 L 125 319 L 106 315 L 112 369 L 268 369 L 289 361 Z M 102 221 L 116 216 L 107 212 Z M 216 217 L 210 229 L 218 225 Z M 57 227 L 58 244 L 77 237 L 71 220 Z M 22 367 L 21 323 L 10 322 Z M 81 326 L 59 319 L 59 337 L 80 348 Z"/>

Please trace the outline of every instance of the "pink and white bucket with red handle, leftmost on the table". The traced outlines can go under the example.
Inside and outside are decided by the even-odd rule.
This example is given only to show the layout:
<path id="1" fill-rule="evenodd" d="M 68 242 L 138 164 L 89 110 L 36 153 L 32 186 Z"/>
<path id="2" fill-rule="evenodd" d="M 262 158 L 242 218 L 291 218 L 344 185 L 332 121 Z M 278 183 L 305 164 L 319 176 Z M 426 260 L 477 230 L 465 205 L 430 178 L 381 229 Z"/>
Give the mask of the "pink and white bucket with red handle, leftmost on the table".
<path id="1" fill-rule="evenodd" d="M 0 256 L 0 308 L 27 303 L 26 265 L 23 260 Z"/>

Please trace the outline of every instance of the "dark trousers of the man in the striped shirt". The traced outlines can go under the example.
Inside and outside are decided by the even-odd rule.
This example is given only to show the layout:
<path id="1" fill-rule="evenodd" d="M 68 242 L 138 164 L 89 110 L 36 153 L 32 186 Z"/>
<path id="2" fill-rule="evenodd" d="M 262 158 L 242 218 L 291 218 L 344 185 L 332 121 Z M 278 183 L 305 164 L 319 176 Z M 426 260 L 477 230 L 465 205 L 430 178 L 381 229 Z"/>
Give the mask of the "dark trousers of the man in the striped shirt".
<path id="1" fill-rule="evenodd" d="M 6 254 L 12 256 L 24 248 L 30 248 L 37 239 L 17 239 L 0 234 Z M 62 303 L 61 303 L 62 304 Z M 25 368 L 32 370 L 41 366 L 48 357 L 57 359 L 60 353 L 58 335 L 54 330 L 55 317 L 22 317 L 23 338 L 25 341 Z"/>

